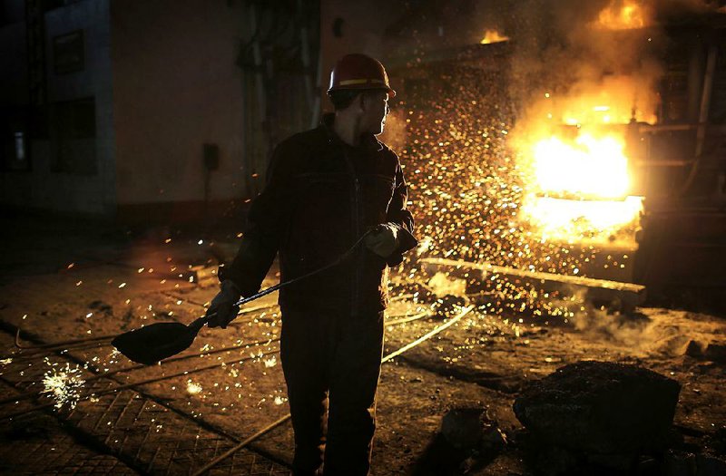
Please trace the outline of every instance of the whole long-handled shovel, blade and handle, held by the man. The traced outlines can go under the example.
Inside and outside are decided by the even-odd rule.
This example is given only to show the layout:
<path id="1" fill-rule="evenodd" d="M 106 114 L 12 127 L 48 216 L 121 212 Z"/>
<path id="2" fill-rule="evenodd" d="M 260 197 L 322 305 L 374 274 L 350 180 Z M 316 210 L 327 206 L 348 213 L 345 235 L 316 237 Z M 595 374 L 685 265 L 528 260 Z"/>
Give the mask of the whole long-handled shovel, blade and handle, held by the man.
<path id="1" fill-rule="evenodd" d="M 259 299 L 262 296 L 267 296 L 281 287 L 289 286 L 301 279 L 317 275 L 331 267 L 337 266 L 350 257 L 363 239 L 375 230 L 376 228 L 372 228 L 364 233 L 363 236 L 358 238 L 358 241 L 356 241 L 356 243 L 348 249 L 348 251 L 340 255 L 338 259 L 329 265 L 310 271 L 307 275 L 295 277 L 285 281 L 284 283 L 268 287 L 256 295 L 243 297 L 235 303 L 235 306 L 241 306 L 249 303 L 250 301 L 254 301 L 255 299 Z M 133 362 L 144 365 L 156 364 L 160 360 L 179 354 L 183 350 L 188 349 L 191 343 L 194 342 L 194 338 L 197 334 L 199 334 L 201 328 L 207 324 L 211 316 L 214 316 L 214 313 L 211 313 L 209 316 L 201 316 L 189 325 L 183 325 L 178 322 L 162 322 L 146 325 L 140 329 L 134 329 L 132 331 L 125 332 L 122 335 L 116 336 L 113 341 L 111 341 L 111 345 L 113 345 L 120 353 L 126 355 Z"/>

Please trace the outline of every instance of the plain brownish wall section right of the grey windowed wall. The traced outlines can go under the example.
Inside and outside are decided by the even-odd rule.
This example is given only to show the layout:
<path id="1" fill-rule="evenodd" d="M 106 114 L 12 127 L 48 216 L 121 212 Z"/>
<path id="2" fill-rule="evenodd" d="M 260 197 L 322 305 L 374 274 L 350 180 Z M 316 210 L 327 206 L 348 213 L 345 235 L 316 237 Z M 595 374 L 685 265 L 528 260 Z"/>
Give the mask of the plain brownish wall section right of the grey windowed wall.
<path id="1" fill-rule="evenodd" d="M 199 203 L 204 143 L 219 146 L 211 200 L 240 199 L 240 2 L 115 0 L 111 10 L 118 204 Z"/>

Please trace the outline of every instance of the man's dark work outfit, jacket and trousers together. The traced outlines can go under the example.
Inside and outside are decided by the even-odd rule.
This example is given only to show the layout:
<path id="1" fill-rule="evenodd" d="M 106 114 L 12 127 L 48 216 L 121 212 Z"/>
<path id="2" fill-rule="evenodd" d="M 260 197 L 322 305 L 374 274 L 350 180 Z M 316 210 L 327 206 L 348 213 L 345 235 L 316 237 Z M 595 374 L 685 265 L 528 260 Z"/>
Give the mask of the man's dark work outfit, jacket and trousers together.
<path id="1" fill-rule="evenodd" d="M 312 474 L 324 458 L 326 475 L 352 476 L 370 467 L 387 265 L 399 264 L 417 241 L 397 155 L 373 135 L 358 147 L 340 141 L 333 119 L 329 114 L 319 128 L 277 147 L 240 251 L 220 277 L 251 296 L 276 253 L 287 281 L 334 261 L 368 228 L 402 228 L 388 259 L 360 246 L 338 266 L 280 290 L 295 473 Z"/>

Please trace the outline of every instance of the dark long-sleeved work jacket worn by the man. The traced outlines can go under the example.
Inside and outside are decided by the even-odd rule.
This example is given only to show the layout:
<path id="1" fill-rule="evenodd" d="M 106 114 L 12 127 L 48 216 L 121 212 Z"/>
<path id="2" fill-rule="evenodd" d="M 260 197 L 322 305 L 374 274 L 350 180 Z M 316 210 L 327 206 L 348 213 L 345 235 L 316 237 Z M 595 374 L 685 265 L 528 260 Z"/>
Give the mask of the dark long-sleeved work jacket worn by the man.
<path id="1" fill-rule="evenodd" d="M 365 246 L 336 267 L 280 289 L 280 306 L 335 306 L 352 314 L 388 305 L 388 266 L 417 245 L 407 210 L 407 186 L 396 153 L 373 135 L 351 147 L 332 131 L 332 114 L 319 128 L 293 135 L 273 153 L 267 184 L 253 200 L 240 250 L 220 278 L 251 296 L 280 253 L 280 282 L 324 267 L 380 223 L 395 223 L 399 247 L 384 259 Z"/>

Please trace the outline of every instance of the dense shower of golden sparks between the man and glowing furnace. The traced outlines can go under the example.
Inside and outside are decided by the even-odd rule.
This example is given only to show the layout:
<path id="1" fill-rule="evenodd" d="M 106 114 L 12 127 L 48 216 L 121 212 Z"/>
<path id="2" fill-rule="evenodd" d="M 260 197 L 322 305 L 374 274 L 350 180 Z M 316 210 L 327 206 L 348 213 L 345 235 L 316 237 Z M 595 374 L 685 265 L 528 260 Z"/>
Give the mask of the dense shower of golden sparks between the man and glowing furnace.
<path id="1" fill-rule="evenodd" d="M 414 62 L 408 67 L 420 68 Z M 417 255 L 570 276 L 592 276 L 588 273 L 594 270 L 591 264 L 598 257 L 602 266 L 614 267 L 618 258 L 613 255 L 611 259 L 603 250 L 613 237 L 629 239 L 630 228 L 597 242 L 590 236 L 585 236 L 588 241 L 580 241 L 575 236 L 579 229 L 570 230 L 572 239 L 545 239 L 544 232 L 547 237 L 557 234 L 532 219 L 532 170 L 523 167 L 522 152 L 510 138 L 516 111 L 501 72 L 477 71 L 456 63 L 433 68 L 435 71 L 427 70 L 426 74 L 436 79 L 427 83 L 427 88 L 407 92 L 407 102 L 399 103 L 387 131 L 391 138 L 406 137 L 397 151 L 409 184 L 408 205 L 417 219 L 416 235 L 428 237 L 421 241 Z M 603 103 L 594 103 L 591 110 L 608 113 L 599 107 Z M 627 210 L 613 213 L 633 209 L 637 216 L 640 202 L 616 200 L 622 201 L 616 205 Z M 579 225 L 583 220 L 578 217 L 568 219 L 567 226 L 573 220 Z M 408 279 L 425 282 L 429 277 L 420 275 L 416 258 L 413 254 L 406 257 L 411 265 Z M 631 262 L 625 264 L 630 266 Z M 620 262 L 617 267 L 621 267 Z M 570 314 L 561 296 L 547 293 L 534 283 L 492 276 L 477 286 L 486 294 L 483 313 Z"/>

